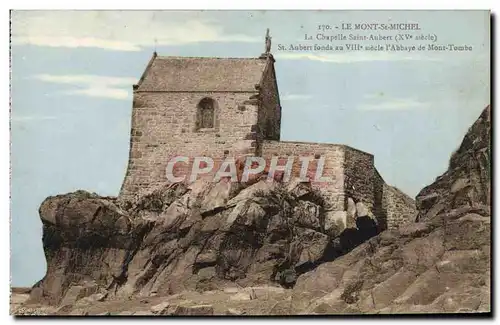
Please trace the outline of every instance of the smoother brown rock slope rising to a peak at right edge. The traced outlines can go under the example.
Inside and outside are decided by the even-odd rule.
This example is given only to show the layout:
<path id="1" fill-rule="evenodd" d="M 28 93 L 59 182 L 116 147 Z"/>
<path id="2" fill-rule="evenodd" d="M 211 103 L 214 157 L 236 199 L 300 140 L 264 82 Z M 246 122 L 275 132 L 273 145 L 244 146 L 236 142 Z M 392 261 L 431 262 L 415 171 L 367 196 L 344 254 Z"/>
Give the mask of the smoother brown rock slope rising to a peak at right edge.
<path id="1" fill-rule="evenodd" d="M 490 154 L 487 107 L 448 171 L 418 195 L 418 222 L 300 276 L 293 312 L 489 312 Z"/>

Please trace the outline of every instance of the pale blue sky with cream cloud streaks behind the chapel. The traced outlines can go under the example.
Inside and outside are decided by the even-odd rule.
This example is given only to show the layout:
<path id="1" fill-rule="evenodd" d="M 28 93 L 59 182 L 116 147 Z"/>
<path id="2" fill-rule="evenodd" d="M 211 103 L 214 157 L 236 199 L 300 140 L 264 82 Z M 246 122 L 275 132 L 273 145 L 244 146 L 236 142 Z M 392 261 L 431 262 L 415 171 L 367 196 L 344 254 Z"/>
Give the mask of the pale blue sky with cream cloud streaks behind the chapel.
<path id="1" fill-rule="evenodd" d="M 319 24 L 342 22 L 417 22 L 419 34 L 473 50 L 277 51 L 303 43 Z M 282 140 L 370 152 L 387 183 L 415 196 L 446 170 L 489 104 L 489 22 L 485 11 L 13 12 L 12 284 L 45 274 L 43 199 L 77 189 L 118 194 L 132 84 L 155 48 L 163 56 L 257 57 L 270 28 Z"/>

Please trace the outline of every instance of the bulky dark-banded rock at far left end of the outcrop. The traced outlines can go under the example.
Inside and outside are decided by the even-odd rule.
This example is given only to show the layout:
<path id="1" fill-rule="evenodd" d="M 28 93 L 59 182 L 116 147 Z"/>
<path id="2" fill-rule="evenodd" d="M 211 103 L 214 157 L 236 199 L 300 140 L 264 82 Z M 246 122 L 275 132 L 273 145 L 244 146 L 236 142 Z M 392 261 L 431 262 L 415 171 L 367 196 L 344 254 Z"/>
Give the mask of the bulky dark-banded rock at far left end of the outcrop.
<path id="1" fill-rule="evenodd" d="M 122 284 L 129 260 L 151 227 L 130 217 L 114 199 L 83 191 L 49 197 L 39 212 L 47 273 L 35 287 L 49 304 L 61 303 L 72 285 L 78 291 L 89 280 L 98 288 Z"/>

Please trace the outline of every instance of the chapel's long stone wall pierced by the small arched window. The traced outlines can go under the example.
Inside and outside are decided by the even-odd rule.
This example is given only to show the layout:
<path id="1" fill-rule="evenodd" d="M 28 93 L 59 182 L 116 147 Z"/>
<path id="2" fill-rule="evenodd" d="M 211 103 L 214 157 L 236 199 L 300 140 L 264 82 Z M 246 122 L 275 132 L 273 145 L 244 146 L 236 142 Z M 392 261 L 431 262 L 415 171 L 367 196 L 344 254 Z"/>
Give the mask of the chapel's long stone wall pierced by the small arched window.
<path id="1" fill-rule="evenodd" d="M 258 93 L 134 92 L 130 155 L 120 196 L 167 182 L 166 166 L 174 156 L 255 154 Z M 196 130 L 199 101 L 214 99 L 214 129 Z M 175 175 L 190 167 L 178 163 Z"/>

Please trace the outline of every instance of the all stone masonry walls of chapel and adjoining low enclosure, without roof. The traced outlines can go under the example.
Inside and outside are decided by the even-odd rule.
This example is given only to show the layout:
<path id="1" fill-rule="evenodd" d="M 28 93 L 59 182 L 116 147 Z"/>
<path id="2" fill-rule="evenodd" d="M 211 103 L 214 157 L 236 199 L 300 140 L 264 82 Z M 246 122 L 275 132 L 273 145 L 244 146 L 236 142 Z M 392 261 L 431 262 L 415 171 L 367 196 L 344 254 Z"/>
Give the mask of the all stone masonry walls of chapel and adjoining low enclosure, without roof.
<path id="1" fill-rule="evenodd" d="M 252 93 L 135 91 L 130 158 L 120 196 L 166 183 L 167 163 L 175 156 L 191 157 L 189 164 L 178 163 L 174 170 L 175 176 L 186 177 L 196 156 L 214 159 L 214 172 L 227 156 L 259 155 L 268 165 L 273 156 L 282 157 L 280 165 L 295 156 L 293 176 L 300 174 L 299 157 L 308 157 L 311 179 L 318 159 L 325 157 L 322 175 L 330 180 L 313 181 L 313 186 L 327 199 L 328 210 L 345 210 L 346 198 L 351 197 L 377 216 L 382 229 L 413 220 L 413 200 L 385 184 L 373 155 L 345 145 L 265 140 L 279 133 L 281 116 L 277 89 L 271 86 L 274 72 L 266 75 L 263 83 L 269 83 L 266 87 L 274 95 L 258 89 Z M 217 103 L 216 123 L 213 129 L 197 130 L 197 106 L 205 97 Z M 271 132 L 262 130 L 266 123 Z"/>

